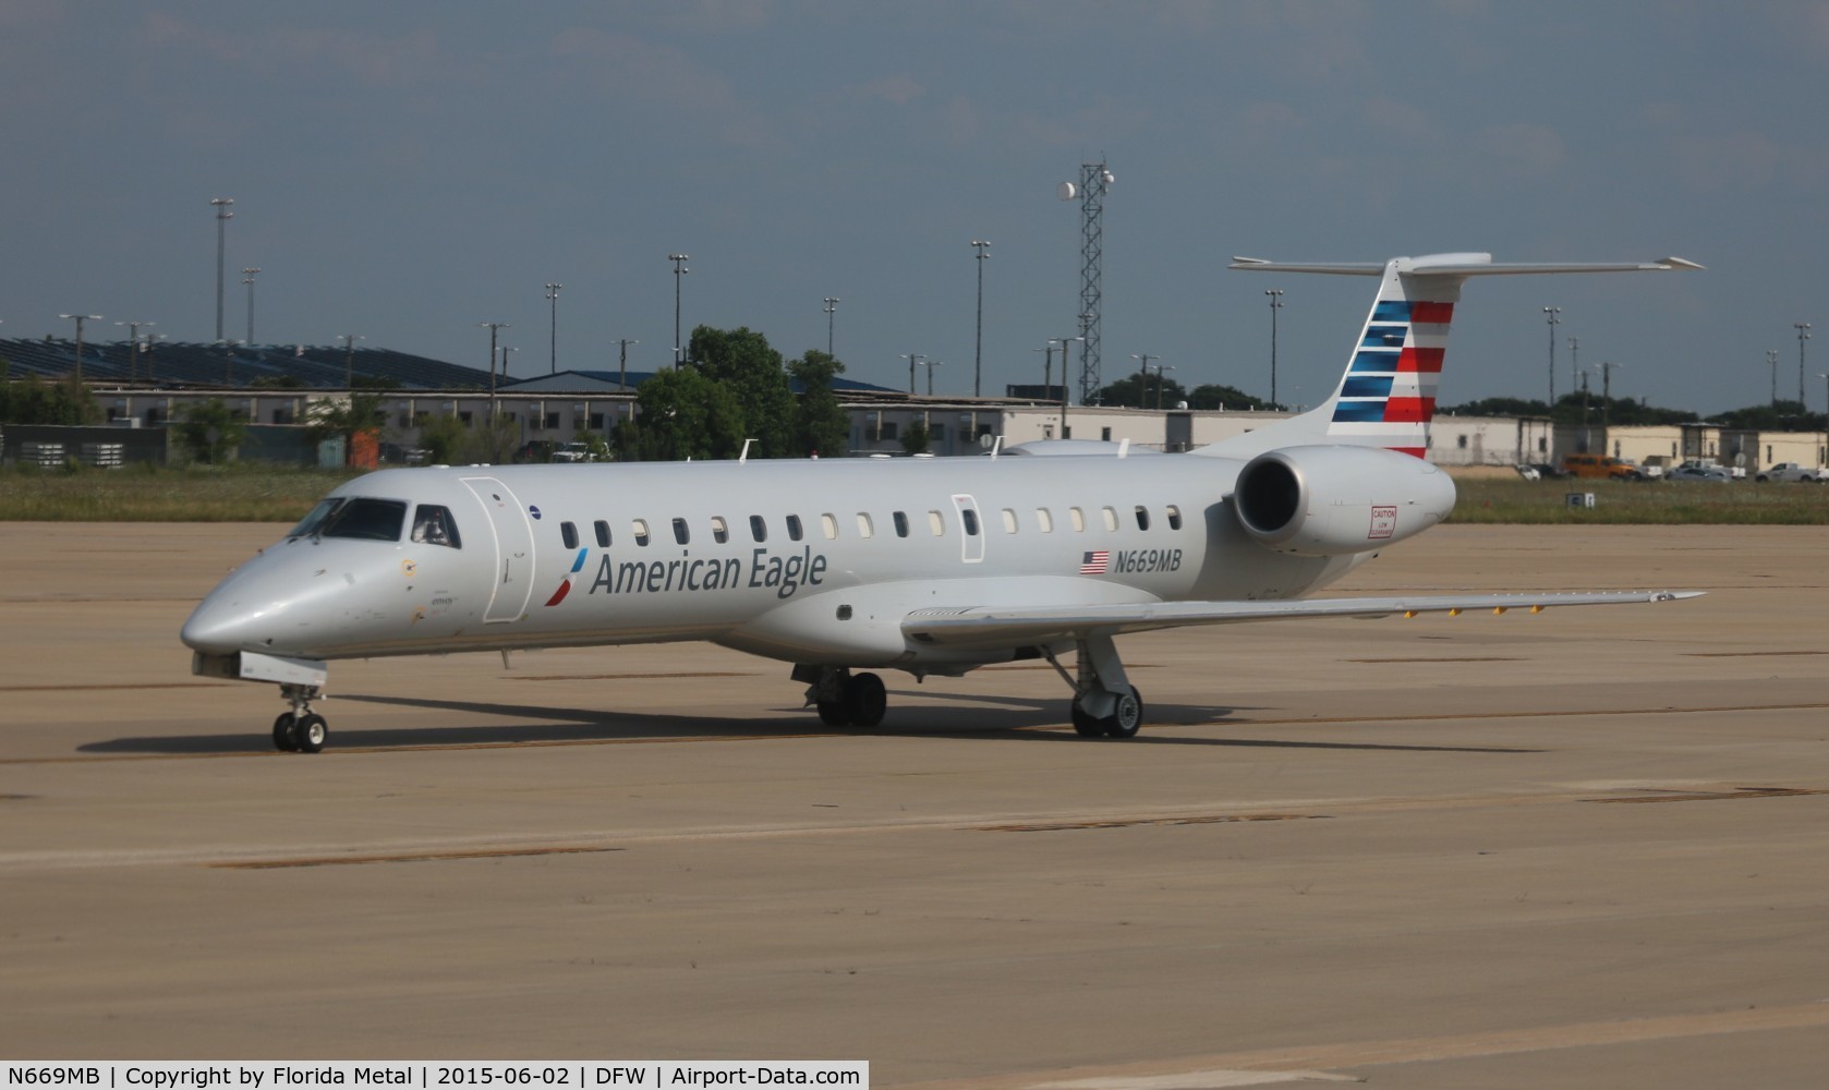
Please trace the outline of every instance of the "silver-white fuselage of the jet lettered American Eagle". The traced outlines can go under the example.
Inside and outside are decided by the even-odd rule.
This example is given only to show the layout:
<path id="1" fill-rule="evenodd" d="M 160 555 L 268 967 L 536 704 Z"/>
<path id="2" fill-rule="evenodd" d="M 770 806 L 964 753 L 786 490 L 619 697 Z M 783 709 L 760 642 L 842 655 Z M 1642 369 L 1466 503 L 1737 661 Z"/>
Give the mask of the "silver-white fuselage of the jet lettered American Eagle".
<path id="1" fill-rule="evenodd" d="M 294 534 L 198 605 L 203 653 L 313 660 L 711 640 L 786 662 L 958 673 L 913 609 L 1278 600 L 1363 556 L 1253 541 L 1229 457 L 1002 455 L 432 466 L 331 499 L 397 505 L 393 538 Z M 457 547 L 415 541 L 443 507 Z"/>

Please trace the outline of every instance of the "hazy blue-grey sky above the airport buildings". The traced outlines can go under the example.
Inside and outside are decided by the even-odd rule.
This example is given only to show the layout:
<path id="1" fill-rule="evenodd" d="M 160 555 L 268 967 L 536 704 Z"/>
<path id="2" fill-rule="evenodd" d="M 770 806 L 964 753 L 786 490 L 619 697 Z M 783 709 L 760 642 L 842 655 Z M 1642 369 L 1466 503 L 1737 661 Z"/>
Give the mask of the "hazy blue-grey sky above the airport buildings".
<path id="1" fill-rule="evenodd" d="M 1829 4 L 1193 0 L 0 2 L 0 333 L 60 313 L 391 347 L 514 377 L 673 358 L 748 326 L 847 377 L 1043 379 L 1079 331 L 1105 163 L 1107 382 L 1335 384 L 1375 282 L 1233 254 L 1500 262 L 1677 254 L 1705 272 L 1487 278 L 1443 404 L 1613 391 L 1701 413 L 1829 371 Z M 690 254 L 675 278 L 668 254 Z M 545 283 L 563 283 L 556 305 Z M 1075 375 L 1079 358 L 1074 360 Z M 1059 375 L 1059 371 L 1055 371 Z M 925 390 L 927 377 L 920 377 Z"/>

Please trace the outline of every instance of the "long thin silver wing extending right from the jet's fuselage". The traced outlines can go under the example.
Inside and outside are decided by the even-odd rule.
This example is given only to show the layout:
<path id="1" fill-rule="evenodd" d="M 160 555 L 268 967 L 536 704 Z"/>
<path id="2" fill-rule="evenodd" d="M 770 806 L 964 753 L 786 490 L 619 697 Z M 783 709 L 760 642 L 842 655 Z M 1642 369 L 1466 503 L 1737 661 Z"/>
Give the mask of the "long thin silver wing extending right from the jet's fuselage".
<path id="1" fill-rule="evenodd" d="M 902 633 L 922 644 L 1006 647 L 1070 638 L 1081 633 L 1143 633 L 1196 624 L 1244 624 L 1297 616 L 1390 616 L 1460 613 L 1465 609 L 1529 609 L 1551 605 L 1622 605 L 1675 602 L 1703 591 L 1591 591 L 1567 594 L 1438 594 L 1414 598 L 1299 598 L 1289 602 L 1136 602 L 1086 605 L 960 605 L 927 607 L 902 620 Z"/>

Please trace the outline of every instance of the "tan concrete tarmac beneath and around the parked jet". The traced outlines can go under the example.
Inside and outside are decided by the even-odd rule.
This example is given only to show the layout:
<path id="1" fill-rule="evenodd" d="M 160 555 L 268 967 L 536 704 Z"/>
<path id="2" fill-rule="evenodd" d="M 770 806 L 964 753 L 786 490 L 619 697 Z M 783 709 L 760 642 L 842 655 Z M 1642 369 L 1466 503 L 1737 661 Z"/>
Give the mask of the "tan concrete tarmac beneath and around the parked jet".
<path id="1" fill-rule="evenodd" d="M 0 1057 L 865 1059 L 876 1086 L 1820 1086 L 1825 529 L 1443 527 L 1342 593 L 1661 605 L 1119 640 L 830 730 L 704 646 L 177 627 L 271 525 L 0 525 Z"/>

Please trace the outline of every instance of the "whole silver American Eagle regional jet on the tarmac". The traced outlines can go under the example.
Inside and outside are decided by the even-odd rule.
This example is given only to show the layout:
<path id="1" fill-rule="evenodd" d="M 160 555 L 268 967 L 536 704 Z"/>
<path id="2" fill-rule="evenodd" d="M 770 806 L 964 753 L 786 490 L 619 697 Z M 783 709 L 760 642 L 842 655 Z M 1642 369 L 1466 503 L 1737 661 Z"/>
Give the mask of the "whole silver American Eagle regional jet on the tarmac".
<path id="1" fill-rule="evenodd" d="M 792 664 L 825 724 L 860 728 L 885 715 L 874 669 L 1041 658 L 1072 688 L 1081 735 L 1128 739 L 1143 699 L 1125 633 L 1694 596 L 1304 598 L 1452 510 L 1454 483 L 1425 455 L 1469 278 L 1701 265 L 1456 252 L 1229 267 L 1377 278 L 1311 411 L 1185 454 L 1057 439 L 953 459 L 379 470 L 198 604 L 181 631 L 192 671 L 278 684 L 291 708 L 274 746 L 316 753 L 327 726 L 311 702 L 338 658 L 706 640 Z"/>

